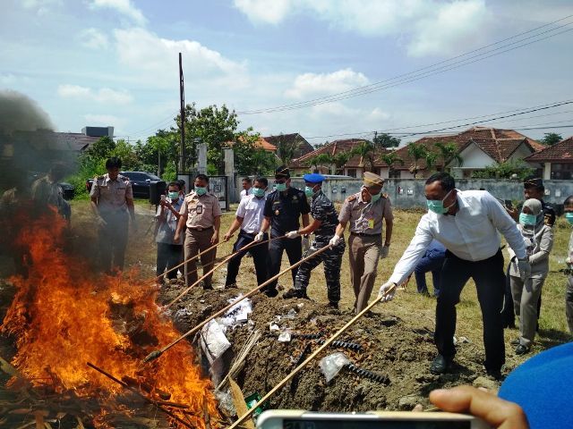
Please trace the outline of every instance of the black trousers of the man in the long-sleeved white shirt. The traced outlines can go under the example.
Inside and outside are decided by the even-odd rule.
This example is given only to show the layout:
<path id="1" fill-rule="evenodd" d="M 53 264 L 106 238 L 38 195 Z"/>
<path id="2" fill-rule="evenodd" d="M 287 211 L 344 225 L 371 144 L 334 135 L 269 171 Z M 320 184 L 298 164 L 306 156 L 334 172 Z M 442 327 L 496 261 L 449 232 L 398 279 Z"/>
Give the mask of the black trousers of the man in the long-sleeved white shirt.
<path id="1" fill-rule="evenodd" d="M 505 274 L 501 250 L 493 257 L 476 262 L 460 259 L 446 251 L 446 259 L 441 270 L 440 296 L 436 304 L 434 341 L 440 355 L 447 358 L 454 357 L 456 305 L 461 291 L 470 278 L 475 281 L 477 299 L 482 309 L 484 365 L 488 370 L 499 370 L 505 363 L 501 315 Z"/>

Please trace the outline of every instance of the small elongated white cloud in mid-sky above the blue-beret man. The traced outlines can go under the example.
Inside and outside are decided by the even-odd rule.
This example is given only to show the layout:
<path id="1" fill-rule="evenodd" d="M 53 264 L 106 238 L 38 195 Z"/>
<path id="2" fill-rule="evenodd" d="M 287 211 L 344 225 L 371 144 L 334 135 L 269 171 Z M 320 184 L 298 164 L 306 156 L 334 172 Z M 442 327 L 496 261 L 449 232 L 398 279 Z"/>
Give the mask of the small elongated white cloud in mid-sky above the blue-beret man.
<path id="1" fill-rule="evenodd" d="M 363 73 L 344 69 L 332 73 L 304 73 L 296 77 L 292 88 L 285 91 L 290 98 L 329 95 L 368 84 Z"/>

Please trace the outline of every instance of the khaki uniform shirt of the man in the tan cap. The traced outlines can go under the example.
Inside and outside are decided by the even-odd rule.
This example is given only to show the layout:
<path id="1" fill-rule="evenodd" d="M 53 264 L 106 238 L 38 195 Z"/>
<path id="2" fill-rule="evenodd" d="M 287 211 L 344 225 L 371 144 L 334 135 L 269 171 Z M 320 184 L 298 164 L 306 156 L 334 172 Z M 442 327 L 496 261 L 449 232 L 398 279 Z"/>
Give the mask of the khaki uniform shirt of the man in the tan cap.
<path id="1" fill-rule="evenodd" d="M 358 234 L 381 234 L 382 219 L 394 219 L 387 194 L 374 204 L 363 201 L 361 192 L 353 194 L 345 199 L 338 215 L 338 222 L 350 223 L 350 232 Z"/>

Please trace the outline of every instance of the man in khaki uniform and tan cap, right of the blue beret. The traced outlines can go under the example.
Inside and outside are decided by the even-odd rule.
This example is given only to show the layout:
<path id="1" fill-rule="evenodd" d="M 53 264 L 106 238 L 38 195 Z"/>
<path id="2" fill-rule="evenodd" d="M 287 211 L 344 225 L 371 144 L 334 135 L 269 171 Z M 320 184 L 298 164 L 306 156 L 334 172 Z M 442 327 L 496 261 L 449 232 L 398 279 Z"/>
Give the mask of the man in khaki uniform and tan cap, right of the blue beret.
<path id="1" fill-rule="evenodd" d="M 376 280 L 378 260 L 388 257 L 392 238 L 392 207 L 388 195 L 382 194 L 384 181 L 373 172 L 364 172 L 360 192 L 346 198 L 338 226 L 330 244 L 336 246 L 342 239 L 346 223 L 350 223 L 348 256 L 350 257 L 350 280 L 355 290 L 355 312 L 368 305 Z M 382 219 L 386 221 L 386 236 L 382 246 Z"/>

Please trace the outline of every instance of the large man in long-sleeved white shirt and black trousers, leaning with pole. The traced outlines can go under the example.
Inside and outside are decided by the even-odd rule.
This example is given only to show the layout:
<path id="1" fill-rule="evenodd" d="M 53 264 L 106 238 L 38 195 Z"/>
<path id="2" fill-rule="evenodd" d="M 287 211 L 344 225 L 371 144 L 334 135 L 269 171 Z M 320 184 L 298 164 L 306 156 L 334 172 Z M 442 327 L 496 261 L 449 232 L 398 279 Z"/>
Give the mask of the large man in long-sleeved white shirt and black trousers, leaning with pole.
<path id="1" fill-rule="evenodd" d="M 432 374 L 448 371 L 456 349 L 456 304 L 471 278 L 475 281 L 477 298 L 482 308 L 483 345 L 487 374 L 500 378 L 505 363 L 501 306 L 505 287 L 500 234 L 516 251 L 519 272 L 526 277 L 531 267 L 527 262 L 526 245 L 517 225 L 500 203 L 485 190 L 460 191 L 446 172 L 433 174 L 425 186 L 428 213 L 422 216 L 414 239 L 394 268 L 389 282 L 381 286 L 384 300 L 392 299 L 394 285 L 406 278 L 423 257 L 432 240 L 438 240 L 446 250 L 441 269 L 440 296 L 436 304 L 434 342 L 438 356 L 433 360 Z"/>

